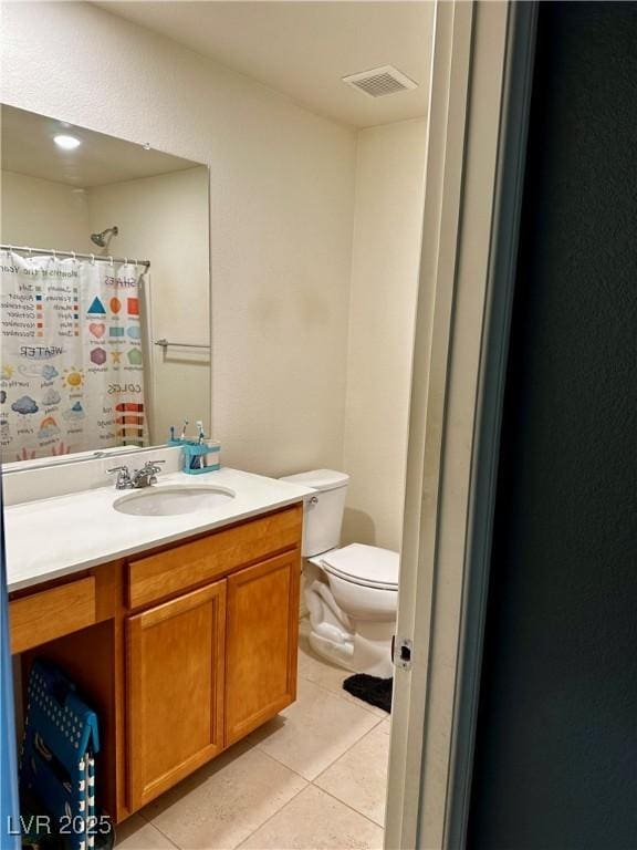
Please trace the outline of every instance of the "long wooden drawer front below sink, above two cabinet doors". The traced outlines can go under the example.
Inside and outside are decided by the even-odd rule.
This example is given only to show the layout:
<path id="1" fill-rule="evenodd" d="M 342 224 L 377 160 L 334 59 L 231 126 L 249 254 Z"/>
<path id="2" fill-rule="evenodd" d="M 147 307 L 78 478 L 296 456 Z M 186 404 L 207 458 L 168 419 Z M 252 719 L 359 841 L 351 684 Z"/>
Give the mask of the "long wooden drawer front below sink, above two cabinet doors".
<path id="1" fill-rule="evenodd" d="M 217 531 L 128 564 L 128 607 L 147 605 L 232 570 L 301 546 L 303 508 Z"/>

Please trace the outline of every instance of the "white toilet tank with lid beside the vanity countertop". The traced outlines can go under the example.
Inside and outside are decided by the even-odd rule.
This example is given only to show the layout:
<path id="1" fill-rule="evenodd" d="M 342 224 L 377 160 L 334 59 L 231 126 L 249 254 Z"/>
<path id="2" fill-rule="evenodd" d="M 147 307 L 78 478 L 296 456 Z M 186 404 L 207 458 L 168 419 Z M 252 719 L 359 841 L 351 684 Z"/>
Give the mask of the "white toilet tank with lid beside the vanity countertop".
<path id="1" fill-rule="evenodd" d="M 311 558 L 338 546 L 349 476 L 334 469 L 312 469 L 281 480 L 315 490 L 313 496 L 305 497 L 303 506 L 303 557 Z"/>

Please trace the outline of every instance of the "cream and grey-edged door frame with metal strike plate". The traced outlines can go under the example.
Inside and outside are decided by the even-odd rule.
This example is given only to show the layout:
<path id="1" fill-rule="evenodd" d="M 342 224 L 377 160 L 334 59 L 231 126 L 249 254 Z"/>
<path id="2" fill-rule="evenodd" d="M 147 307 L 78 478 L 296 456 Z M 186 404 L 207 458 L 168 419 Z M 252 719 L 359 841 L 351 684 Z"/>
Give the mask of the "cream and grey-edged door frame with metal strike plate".
<path id="1" fill-rule="evenodd" d="M 535 3 L 438 0 L 386 848 L 461 848 L 533 73 Z"/>

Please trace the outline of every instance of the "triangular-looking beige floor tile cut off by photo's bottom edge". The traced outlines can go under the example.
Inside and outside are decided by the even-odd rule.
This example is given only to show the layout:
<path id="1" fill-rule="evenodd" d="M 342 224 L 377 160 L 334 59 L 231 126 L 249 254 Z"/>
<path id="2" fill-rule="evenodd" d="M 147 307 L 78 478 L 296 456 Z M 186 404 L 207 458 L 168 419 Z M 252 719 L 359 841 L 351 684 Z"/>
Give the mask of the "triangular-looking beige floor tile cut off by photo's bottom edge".
<path id="1" fill-rule="evenodd" d="M 252 850 L 380 850 L 383 830 L 310 786 L 241 844 Z"/>

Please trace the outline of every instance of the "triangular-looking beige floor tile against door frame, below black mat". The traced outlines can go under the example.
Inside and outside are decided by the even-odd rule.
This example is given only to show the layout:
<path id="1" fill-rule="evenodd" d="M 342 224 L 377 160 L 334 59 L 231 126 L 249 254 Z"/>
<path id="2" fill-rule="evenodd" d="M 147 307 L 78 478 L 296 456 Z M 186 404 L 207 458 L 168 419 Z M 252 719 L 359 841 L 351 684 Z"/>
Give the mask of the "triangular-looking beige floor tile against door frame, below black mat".
<path id="1" fill-rule="evenodd" d="M 323 790 L 365 815 L 385 823 L 389 736 L 379 723 L 315 780 Z"/>

